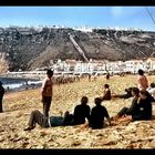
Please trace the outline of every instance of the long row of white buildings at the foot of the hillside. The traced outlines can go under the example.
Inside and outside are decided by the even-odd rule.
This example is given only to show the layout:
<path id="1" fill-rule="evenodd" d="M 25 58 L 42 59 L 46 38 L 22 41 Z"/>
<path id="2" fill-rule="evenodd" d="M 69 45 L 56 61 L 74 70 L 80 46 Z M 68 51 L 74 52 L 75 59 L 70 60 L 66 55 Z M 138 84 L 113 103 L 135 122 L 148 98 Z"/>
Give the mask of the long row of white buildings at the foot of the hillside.
<path id="1" fill-rule="evenodd" d="M 94 73 L 105 72 L 122 73 L 131 72 L 137 73 L 140 69 L 144 71 L 155 70 L 155 58 L 144 60 L 128 60 L 128 61 L 107 61 L 107 60 L 90 60 L 89 62 L 76 60 L 58 60 L 53 64 L 53 69 L 56 71 L 75 72 L 75 73 Z"/>

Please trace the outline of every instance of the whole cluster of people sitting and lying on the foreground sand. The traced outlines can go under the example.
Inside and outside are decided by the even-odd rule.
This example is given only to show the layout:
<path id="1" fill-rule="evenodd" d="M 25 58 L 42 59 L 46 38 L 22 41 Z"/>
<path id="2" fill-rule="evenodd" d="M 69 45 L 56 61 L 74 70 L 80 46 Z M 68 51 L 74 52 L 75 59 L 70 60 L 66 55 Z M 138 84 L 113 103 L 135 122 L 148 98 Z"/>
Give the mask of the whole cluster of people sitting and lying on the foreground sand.
<path id="1" fill-rule="evenodd" d="M 155 102 L 153 90 L 155 90 L 155 84 L 151 83 L 151 87 L 148 87 L 143 70 L 138 70 L 138 86 L 125 89 L 125 94 L 111 94 L 110 85 L 105 84 L 104 95 L 94 99 L 95 106 L 92 110 L 87 105 L 87 96 L 82 96 L 81 104 L 74 107 L 74 112 L 70 113 L 66 111 L 63 116 L 44 116 L 40 111 L 33 111 L 30 115 L 28 127 L 24 131 L 33 130 L 37 123 L 42 127 L 83 125 L 95 130 L 103 128 L 105 125 L 112 125 L 113 122 L 122 117 L 130 121 L 152 120 L 152 104 Z M 115 116 L 110 117 L 106 107 L 102 103 L 114 97 L 133 97 L 133 100 L 130 107 L 123 107 Z"/>

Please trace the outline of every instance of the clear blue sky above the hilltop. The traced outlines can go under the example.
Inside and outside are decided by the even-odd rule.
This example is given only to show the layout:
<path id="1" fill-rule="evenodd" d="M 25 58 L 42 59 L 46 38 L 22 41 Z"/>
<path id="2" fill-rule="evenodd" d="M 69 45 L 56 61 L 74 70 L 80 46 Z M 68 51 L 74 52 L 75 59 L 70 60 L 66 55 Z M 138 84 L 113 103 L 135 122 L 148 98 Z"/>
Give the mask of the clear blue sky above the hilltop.
<path id="1" fill-rule="evenodd" d="M 155 7 L 0 7 L 0 27 L 103 27 L 155 31 Z"/>

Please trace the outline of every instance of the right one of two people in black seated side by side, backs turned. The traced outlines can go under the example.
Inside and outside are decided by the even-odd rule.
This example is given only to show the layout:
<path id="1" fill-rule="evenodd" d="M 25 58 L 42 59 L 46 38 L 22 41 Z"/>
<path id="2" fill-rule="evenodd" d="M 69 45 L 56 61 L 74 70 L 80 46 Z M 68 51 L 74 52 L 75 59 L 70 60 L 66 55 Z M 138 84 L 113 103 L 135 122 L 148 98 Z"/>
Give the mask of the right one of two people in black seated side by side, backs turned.
<path id="1" fill-rule="evenodd" d="M 104 127 L 104 117 L 106 117 L 108 123 L 111 124 L 110 115 L 106 107 L 101 105 L 102 100 L 100 97 L 95 97 L 94 103 L 96 106 L 92 108 L 87 124 L 89 127 L 92 127 L 93 130 Z"/>

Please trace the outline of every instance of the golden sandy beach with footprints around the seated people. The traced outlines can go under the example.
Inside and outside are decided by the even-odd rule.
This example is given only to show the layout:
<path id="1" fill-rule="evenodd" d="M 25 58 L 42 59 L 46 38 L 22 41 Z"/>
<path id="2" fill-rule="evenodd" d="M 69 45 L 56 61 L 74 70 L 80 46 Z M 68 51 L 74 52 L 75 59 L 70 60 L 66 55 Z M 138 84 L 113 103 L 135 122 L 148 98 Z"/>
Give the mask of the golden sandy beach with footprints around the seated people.
<path id="1" fill-rule="evenodd" d="M 124 93 L 130 86 L 136 86 L 137 75 L 99 76 L 96 81 L 54 85 L 51 115 L 60 111 L 72 112 L 83 95 L 89 97 L 89 105 L 94 106 L 94 97 L 102 96 L 102 87 L 108 83 L 112 93 Z M 155 82 L 155 76 L 148 76 Z M 102 104 L 110 116 L 115 115 L 123 106 L 130 106 L 131 99 L 111 100 Z M 140 121 L 107 126 L 102 130 L 80 128 L 79 126 L 59 126 L 41 128 L 39 125 L 30 132 L 23 128 L 33 110 L 42 112 L 40 89 L 13 92 L 4 95 L 4 113 L 0 113 L 0 148 L 154 148 L 155 121 Z M 155 105 L 153 105 L 155 114 Z"/>

